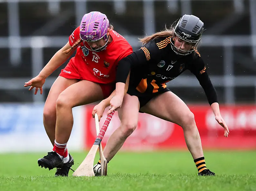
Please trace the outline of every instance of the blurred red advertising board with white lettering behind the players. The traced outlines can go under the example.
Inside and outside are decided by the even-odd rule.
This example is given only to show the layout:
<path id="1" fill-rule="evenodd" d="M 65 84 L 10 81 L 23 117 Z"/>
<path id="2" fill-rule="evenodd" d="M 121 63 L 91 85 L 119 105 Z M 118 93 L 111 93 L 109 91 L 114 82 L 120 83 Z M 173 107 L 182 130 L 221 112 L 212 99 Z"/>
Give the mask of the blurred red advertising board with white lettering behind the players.
<path id="1" fill-rule="evenodd" d="M 256 106 L 222 105 L 221 114 L 229 129 L 229 137 L 224 137 L 223 128 L 217 123 L 209 105 L 189 105 L 194 113 L 197 128 L 204 149 L 256 149 Z M 93 105 L 85 107 L 85 145 L 90 149 L 96 138 L 95 122 L 91 117 Z M 107 110 L 106 110 L 107 111 Z M 103 125 L 106 115 L 100 121 Z M 109 136 L 120 125 L 115 112 L 102 140 L 106 145 Z M 139 113 L 137 129 L 122 147 L 127 150 L 154 150 L 186 148 L 183 130 L 180 126 L 154 116 Z"/>

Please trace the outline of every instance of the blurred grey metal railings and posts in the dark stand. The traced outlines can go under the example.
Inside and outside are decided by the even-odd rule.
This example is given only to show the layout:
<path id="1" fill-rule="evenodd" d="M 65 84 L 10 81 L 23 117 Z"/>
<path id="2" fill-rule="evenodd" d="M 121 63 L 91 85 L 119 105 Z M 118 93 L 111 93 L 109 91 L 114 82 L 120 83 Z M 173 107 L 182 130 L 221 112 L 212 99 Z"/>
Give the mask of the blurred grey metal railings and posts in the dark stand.
<path id="1" fill-rule="evenodd" d="M 90 0 L 99 1 L 100 0 Z M 74 2 L 75 4 L 75 16 L 76 24 L 79 25 L 81 17 L 85 12 L 87 12 L 87 2 L 89 0 L 37 0 L 36 2 L 48 2 L 48 11 L 52 14 L 58 14 L 60 11 L 61 2 Z M 113 2 L 114 10 L 118 14 L 123 14 L 126 11 L 126 1 L 135 0 L 105 0 Z M 156 1 L 156 0 L 155 0 Z M 143 0 L 143 12 L 144 12 L 144 31 L 146 34 L 152 34 L 155 32 L 155 12 L 154 12 L 154 2 L 153 0 Z M 203 0 L 201 0 L 203 1 Z M 210 0 L 204 0 L 210 1 Z M 216 1 L 216 0 L 215 0 Z M 225 0 L 223 0 L 225 1 Z M 231 1 L 231 0 L 230 0 Z M 19 3 L 34 2 L 33 0 L 0 0 L 1 3 L 7 3 L 8 12 L 8 28 L 9 36 L 0 37 L 0 48 L 9 48 L 10 50 L 10 61 L 13 66 L 19 65 L 21 60 L 21 48 L 31 48 L 31 61 L 32 61 L 32 77 L 36 76 L 39 71 L 43 68 L 43 48 L 56 47 L 60 48 L 66 44 L 67 36 L 28 36 L 21 37 L 19 26 L 20 26 L 20 16 L 19 16 Z M 250 23 L 251 23 L 251 35 L 237 35 L 237 36 L 225 36 L 225 35 L 204 35 L 202 38 L 202 47 L 223 47 L 223 64 L 224 68 L 223 75 L 211 75 L 213 85 L 215 87 L 224 88 L 224 102 L 225 103 L 235 103 L 235 93 L 234 87 L 256 87 L 256 75 L 244 75 L 235 76 L 233 73 L 234 67 L 234 47 L 249 46 L 252 50 L 252 57 L 254 61 L 256 60 L 256 1 L 249 0 L 250 4 Z M 180 4 L 179 4 L 180 3 Z M 234 13 L 241 13 L 244 11 L 244 0 L 233 0 Z M 169 12 L 177 12 L 179 8 L 181 14 L 192 14 L 191 0 L 167 0 L 166 4 L 168 6 Z M 179 7 L 180 5 L 180 7 Z M 50 23 L 51 21 L 49 21 Z M 219 23 L 219 27 L 224 27 L 227 23 Z M 49 29 L 52 25 L 49 24 Z M 55 26 L 56 27 L 56 26 Z M 239 30 L 239 26 L 238 26 Z M 128 42 L 133 47 L 139 47 L 141 44 L 138 42 L 138 36 L 124 35 Z M 1 62 L 1 61 L 0 61 Z M 22 89 L 24 82 L 28 80 L 27 78 L 0 78 L 0 89 L 2 90 L 18 90 Z M 50 88 L 55 78 L 50 77 L 44 87 Z M 6 86 L 6 83 L 8 84 Z M 199 87 L 199 83 L 196 79 L 190 78 L 189 80 L 185 76 L 179 77 L 178 80 L 174 80 L 168 84 L 170 87 Z M 255 102 L 256 102 L 256 88 L 255 88 Z M 33 96 L 34 102 L 43 102 L 42 96 Z"/>

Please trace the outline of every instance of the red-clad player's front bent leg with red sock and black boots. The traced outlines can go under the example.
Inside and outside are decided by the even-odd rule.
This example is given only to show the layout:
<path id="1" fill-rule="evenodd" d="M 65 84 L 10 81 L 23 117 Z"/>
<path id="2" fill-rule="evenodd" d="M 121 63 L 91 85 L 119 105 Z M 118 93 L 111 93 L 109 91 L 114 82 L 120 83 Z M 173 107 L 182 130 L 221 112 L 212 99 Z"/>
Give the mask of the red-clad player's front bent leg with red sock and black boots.
<path id="1" fill-rule="evenodd" d="M 53 140 L 52 149 L 54 152 L 49 152 L 47 156 L 38 159 L 39 166 L 49 168 L 49 170 L 58 168 L 56 176 L 68 175 L 69 168 L 74 164 L 73 158 L 68 155 L 67 151 L 67 142 L 73 127 L 72 108 L 100 99 L 103 99 L 100 85 L 86 80 L 74 83 L 60 93 L 56 101 L 54 137 L 56 142 Z"/>

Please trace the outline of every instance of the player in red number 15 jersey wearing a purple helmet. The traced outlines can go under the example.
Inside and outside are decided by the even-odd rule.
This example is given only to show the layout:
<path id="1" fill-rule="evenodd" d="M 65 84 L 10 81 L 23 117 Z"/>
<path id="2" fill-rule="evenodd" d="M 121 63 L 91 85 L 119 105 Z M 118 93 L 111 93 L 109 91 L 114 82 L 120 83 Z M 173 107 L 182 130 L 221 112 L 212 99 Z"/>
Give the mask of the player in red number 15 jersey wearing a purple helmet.
<path id="1" fill-rule="evenodd" d="M 24 87 L 43 93 L 45 79 L 77 50 L 53 83 L 43 109 L 43 124 L 53 149 L 38 160 L 41 167 L 57 168 L 55 176 L 68 176 L 74 164 L 67 142 L 72 126 L 72 108 L 108 97 L 115 88 L 118 62 L 132 53 L 127 40 L 113 30 L 107 16 L 90 12 L 35 78 Z M 33 143 L 32 143 L 33 144 Z"/>

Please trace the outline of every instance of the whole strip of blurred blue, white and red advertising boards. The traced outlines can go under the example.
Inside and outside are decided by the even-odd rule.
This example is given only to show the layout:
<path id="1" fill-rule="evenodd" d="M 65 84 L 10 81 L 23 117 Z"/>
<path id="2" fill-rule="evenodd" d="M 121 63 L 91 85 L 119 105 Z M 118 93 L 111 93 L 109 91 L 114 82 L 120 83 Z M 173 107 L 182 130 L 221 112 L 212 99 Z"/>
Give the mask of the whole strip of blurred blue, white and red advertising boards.
<path id="1" fill-rule="evenodd" d="M 91 116 L 93 106 L 73 109 L 74 126 L 68 143 L 70 150 L 81 151 L 92 146 L 96 138 L 95 122 Z M 256 149 L 256 106 L 221 105 L 222 117 L 230 129 L 229 137 L 223 136 L 224 130 L 215 120 L 209 105 L 189 105 L 189 108 L 195 115 L 204 149 Z M 1 104 L 0 113 L 0 152 L 52 149 L 43 127 L 43 104 Z M 103 146 L 119 125 L 116 112 L 102 140 Z M 180 126 L 145 113 L 139 113 L 137 129 L 122 147 L 131 151 L 185 148 Z"/>

